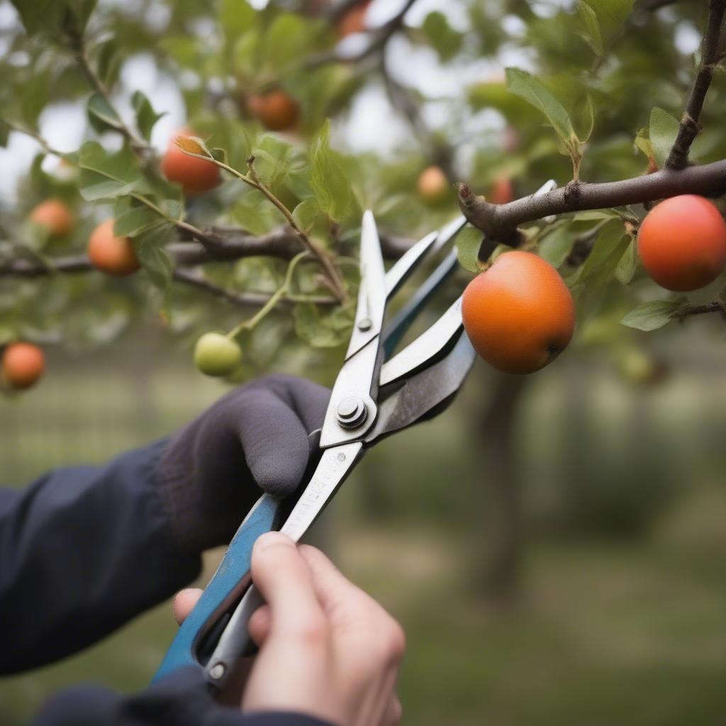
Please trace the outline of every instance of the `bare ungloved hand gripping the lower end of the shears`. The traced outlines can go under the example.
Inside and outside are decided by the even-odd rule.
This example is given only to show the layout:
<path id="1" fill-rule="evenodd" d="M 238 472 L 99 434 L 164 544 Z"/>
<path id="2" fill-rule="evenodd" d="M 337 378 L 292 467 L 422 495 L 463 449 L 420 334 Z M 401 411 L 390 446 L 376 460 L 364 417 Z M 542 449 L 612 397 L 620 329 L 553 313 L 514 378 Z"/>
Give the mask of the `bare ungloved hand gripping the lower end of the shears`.
<path id="1" fill-rule="evenodd" d="M 250 619 L 260 652 L 242 695 L 243 712 L 296 711 L 338 726 L 399 723 L 404 634 L 372 597 L 322 552 L 295 547 L 279 532 L 257 540 L 252 577 L 267 604 Z M 177 595 L 179 623 L 199 595 Z"/>

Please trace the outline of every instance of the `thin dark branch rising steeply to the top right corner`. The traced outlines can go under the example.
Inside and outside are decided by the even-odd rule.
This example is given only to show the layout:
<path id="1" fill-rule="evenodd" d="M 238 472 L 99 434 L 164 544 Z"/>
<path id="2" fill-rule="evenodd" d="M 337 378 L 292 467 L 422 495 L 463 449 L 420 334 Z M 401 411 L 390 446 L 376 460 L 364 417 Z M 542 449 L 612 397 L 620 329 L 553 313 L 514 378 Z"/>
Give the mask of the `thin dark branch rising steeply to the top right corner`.
<path id="1" fill-rule="evenodd" d="M 701 67 L 698 69 L 696 81 L 690 92 L 690 99 L 681 119 L 678 135 L 673 148 L 666 160 L 666 167 L 682 169 L 688 164 L 688 152 L 696 136 L 701 133 L 701 111 L 706 94 L 714 77 L 714 70 L 719 63 L 719 39 L 726 12 L 726 0 L 710 0 L 709 21 L 701 44 Z"/>

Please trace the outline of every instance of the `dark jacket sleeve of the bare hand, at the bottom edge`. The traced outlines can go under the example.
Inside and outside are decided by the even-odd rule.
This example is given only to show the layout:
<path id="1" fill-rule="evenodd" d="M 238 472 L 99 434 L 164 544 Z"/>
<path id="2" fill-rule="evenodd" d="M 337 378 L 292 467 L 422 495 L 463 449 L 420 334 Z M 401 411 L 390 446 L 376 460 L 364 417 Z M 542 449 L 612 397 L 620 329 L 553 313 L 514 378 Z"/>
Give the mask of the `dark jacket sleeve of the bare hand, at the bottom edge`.
<path id="1" fill-rule="evenodd" d="M 213 700 L 195 668 L 182 669 L 149 690 L 118 696 L 102 688 L 76 688 L 52 698 L 33 726 L 331 726 L 303 714 L 242 714 Z"/>

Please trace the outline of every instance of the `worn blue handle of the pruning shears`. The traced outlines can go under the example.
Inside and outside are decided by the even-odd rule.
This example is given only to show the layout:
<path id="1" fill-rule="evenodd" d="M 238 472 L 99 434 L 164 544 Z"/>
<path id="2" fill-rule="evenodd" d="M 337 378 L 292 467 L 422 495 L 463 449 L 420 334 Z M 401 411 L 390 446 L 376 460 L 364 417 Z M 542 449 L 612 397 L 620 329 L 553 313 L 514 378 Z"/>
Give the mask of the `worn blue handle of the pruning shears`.
<path id="1" fill-rule="evenodd" d="M 252 547 L 256 539 L 265 532 L 280 526 L 280 505 L 282 499 L 264 494 L 242 522 L 237 534 L 224 553 L 219 568 L 209 581 L 197 604 L 181 624 L 174 641 L 166 651 L 152 683 L 184 666 L 201 666 L 195 658 L 195 648 L 210 627 L 219 619 L 234 601 L 242 595 L 240 583 L 250 571 Z"/>

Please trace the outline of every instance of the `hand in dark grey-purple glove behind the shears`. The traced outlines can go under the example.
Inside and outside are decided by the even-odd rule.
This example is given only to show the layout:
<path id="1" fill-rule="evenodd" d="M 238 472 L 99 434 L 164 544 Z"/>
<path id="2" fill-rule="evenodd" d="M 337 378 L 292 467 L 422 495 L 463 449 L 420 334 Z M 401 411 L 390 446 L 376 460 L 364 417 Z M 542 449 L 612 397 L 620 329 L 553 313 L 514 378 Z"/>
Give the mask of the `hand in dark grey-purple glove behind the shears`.
<path id="1" fill-rule="evenodd" d="M 270 375 L 227 393 L 171 437 L 158 474 L 181 550 L 227 544 L 262 492 L 295 491 L 328 399 L 309 380 Z"/>

